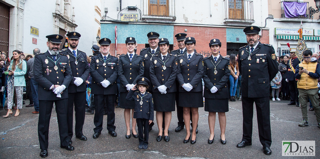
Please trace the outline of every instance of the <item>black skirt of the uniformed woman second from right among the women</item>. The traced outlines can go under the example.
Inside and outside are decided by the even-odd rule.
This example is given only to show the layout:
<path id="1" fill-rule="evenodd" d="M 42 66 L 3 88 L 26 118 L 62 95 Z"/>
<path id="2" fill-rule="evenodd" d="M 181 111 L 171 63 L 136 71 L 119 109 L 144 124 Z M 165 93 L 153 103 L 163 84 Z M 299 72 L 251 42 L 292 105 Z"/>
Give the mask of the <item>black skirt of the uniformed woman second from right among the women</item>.
<path id="1" fill-rule="evenodd" d="M 191 108 L 203 107 L 202 92 L 179 92 L 179 106 Z"/>

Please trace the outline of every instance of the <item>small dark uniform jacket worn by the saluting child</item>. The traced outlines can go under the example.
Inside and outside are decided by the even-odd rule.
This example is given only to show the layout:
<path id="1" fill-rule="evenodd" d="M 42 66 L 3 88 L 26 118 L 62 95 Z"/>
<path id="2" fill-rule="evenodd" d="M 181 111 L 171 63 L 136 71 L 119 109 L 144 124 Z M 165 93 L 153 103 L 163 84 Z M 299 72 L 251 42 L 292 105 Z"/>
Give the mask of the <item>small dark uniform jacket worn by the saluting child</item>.
<path id="1" fill-rule="evenodd" d="M 153 120 L 154 111 L 153 111 L 153 102 L 152 102 L 152 94 L 148 93 L 144 94 L 145 96 L 142 98 L 142 105 L 140 104 L 141 93 L 139 91 L 130 90 L 127 94 L 126 99 L 128 101 L 134 101 L 134 113 L 133 118 L 135 119 L 148 119 Z"/>

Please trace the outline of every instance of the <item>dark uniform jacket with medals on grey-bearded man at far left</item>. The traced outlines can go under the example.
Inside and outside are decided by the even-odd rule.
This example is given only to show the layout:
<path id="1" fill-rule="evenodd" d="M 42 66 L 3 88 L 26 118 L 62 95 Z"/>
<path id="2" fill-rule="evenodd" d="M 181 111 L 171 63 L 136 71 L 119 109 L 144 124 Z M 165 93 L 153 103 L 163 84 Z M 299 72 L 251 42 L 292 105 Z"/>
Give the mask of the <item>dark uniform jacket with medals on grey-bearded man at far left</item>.
<path id="1" fill-rule="evenodd" d="M 54 69 L 54 62 L 49 51 L 36 55 L 33 64 L 34 78 L 39 84 L 39 100 L 55 101 L 68 98 L 68 86 L 72 78 L 68 57 L 58 54 L 56 56 L 57 70 Z M 52 90 L 52 84 L 65 85 L 66 89 L 61 93 L 61 98 L 57 97 Z"/>

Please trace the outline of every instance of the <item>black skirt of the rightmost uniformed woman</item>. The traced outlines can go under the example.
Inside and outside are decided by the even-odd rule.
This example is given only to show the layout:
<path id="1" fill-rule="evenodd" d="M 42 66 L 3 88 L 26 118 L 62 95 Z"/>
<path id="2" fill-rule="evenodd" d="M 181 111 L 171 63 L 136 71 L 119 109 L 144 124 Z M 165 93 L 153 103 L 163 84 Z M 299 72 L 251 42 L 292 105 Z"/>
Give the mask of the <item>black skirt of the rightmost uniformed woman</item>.
<path id="1" fill-rule="evenodd" d="M 209 112 L 228 112 L 229 104 L 227 99 L 204 98 L 204 111 Z"/>

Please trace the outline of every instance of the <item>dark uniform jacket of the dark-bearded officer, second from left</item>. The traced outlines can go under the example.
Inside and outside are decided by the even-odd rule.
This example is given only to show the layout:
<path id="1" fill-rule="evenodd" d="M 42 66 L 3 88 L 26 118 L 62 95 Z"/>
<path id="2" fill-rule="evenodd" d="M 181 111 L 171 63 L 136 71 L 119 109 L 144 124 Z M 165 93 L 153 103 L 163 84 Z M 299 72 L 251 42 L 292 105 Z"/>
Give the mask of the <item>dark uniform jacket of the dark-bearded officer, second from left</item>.
<path id="1" fill-rule="evenodd" d="M 60 54 L 68 57 L 71 71 L 72 71 L 72 78 L 68 86 L 68 93 L 86 91 L 87 85 L 85 81 L 87 80 L 90 72 L 90 68 L 87 61 L 87 55 L 78 49 L 77 49 L 77 54 L 78 54 L 77 57 L 73 55 L 70 49 L 63 49 L 60 51 Z M 75 63 L 76 61 L 78 61 L 77 64 Z M 83 80 L 83 83 L 79 86 L 76 86 L 76 84 L 74 84 L 76 78 L 74 77 L 80 77 Z"/>

